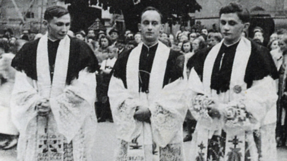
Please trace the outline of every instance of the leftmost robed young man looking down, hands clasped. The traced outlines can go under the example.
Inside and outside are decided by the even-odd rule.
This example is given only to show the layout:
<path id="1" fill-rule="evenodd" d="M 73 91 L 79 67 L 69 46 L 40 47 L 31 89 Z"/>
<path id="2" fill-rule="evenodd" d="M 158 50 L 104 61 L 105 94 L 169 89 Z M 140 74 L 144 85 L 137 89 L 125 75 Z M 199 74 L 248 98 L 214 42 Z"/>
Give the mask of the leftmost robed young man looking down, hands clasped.
<path id="1" fill-rule="evenodd" d="M 12 121 L 20 132 L 20 161 L 92 161 L 95 70 L 91 48 L 67 35 L 70 14 L 61 6 L 44 13 L 48 32 L 24 44 L 12 60 L 17 70 Z"/>

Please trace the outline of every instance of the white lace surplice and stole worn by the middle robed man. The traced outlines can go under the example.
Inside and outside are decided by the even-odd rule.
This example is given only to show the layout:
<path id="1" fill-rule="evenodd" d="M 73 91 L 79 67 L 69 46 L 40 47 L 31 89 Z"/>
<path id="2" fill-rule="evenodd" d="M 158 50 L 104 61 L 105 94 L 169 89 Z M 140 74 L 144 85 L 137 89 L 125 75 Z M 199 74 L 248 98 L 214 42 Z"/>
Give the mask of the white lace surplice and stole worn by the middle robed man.
<path id="1" fill-rule="evenodd" d="M 159 43 L 150 76 L 149 94 L 138 93 L 138 63 L 142 44 L 131 53 L 126 68 L 127 89 L 114 76 L 109 86 L 109 98 L 117 137 L 120 141 L 117 161 L 182 161 L 182 123 L 186 81 L 176 81 L 162 88 L 169 48 Z M 154 65 L 155 64 L 155 65 Z M 134 120 L 137 106 L 148 107 L 151 124 Z"/>

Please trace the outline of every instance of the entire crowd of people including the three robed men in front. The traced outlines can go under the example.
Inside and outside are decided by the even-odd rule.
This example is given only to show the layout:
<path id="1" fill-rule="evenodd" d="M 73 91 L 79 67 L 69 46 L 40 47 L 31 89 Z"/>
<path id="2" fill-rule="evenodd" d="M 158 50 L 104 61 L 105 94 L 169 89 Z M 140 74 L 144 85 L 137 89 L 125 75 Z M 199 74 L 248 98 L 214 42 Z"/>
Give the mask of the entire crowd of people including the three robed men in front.
<path id="1" fill-rule="evenodd" d="M 19 140 L 21 160 L 92 160 L 91 126 L 110 121 L 118 161 L 180 161 L 188 141 L 190 160 L 276 160 L 276 143 L 287 146 L 287 30 L 264 43 L 259 26 L 248 37 L 249 13 L 238 3 L 219 15 L 219 27 L 197 21 L 173 35 L 148 7 L 138 33 L 86 34 L 70 31 L 68 11 L 53 6 L 46 34 L 6 30 L 0 107 L 10 117 L 0 148 Z"/>

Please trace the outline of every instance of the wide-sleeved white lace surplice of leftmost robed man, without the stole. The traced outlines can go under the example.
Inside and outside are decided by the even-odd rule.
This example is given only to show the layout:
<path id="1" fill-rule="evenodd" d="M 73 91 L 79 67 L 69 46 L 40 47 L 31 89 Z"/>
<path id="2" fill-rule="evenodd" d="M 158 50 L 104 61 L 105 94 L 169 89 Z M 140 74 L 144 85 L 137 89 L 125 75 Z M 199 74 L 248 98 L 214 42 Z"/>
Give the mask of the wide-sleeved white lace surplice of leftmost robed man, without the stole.
<path id="1" fill-rule="evenodd" d="M 46 123 L 48 124 L 47 131 L 51 135 L 62 136 L 67 144 L 72 140 L 74 161 L 94 160 L 92 154 L 97 122 L 92 105 L 95 98 L 95 74 L 88 73 L 86 70 L 80 71 L 79 78 L 66 86 L 62 94 L 50 98 L 53 108 L 48 115 L 48 121 L 41 121 L 41 117 L 37 116 L 35 104 L 43 97 L 37 93 L 36 85 L 37 81 L 33 81 L 25 73 L 16 73 L 11 104 L 12 120 L 20 131 L 17 159 L 36 160 L 38 148 L 36 146 L 39 145 L 41 129 Z"/>

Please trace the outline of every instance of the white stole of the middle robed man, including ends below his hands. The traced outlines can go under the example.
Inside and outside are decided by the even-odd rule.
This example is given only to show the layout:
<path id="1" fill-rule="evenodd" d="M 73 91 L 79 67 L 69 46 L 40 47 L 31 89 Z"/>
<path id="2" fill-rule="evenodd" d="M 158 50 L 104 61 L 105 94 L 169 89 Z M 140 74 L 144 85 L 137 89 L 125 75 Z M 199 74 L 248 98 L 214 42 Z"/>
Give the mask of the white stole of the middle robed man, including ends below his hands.
<path id="1" fill-rule="evenodd" d="M 163 87 L 163 81 L 165 76 L 165 70 L 167 65 L 167 60 L 169 58 L 170 49 L 165 46 L 160 41 L 158 42 L 157 50 L 154 56 L 152 69 L 150 72 L 149 78 L 149 92 L 148 94 L 139 92 L 139 62 L 140 62 L 140 55 L 142 51 L 143 43 L 138 44 L 136 48 L 134 48 L 127 61 L 126 65 L 126 83 L 127 83 L 127 90 L 134 96 L 135 99 L 140 100 L 140 104 L 145 107 L 149 107 L 149 104 L 153 102 L 153 98 L 158 94 Z M 142 71 L 141 71 L 142 72 Z M 151 108 L 151 107 L 149 107 Z M 153 144 L 153 136 L 152 130 L 149 123 L 142 124 L 142 133 L 138 137 L 137 141 L 141 145 L 152 145 Z M 159 148 L 159 146 L 157 146 Z M 158 150 L 157 150 L 158 151 Z M 141 156 L 139 156 L 141 155 Z M 128 146 L 128 156 L 136 156 L 138 158 L 143 158 L 143 160 L 159 160 L 159 154 L 154 156 L 147 156 L 144 153 L 144 149 L 141 150 L 134 150 L 130 149 Z"/>

